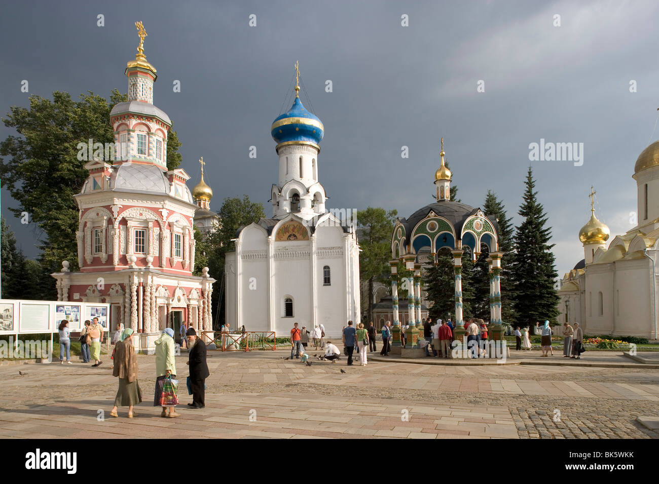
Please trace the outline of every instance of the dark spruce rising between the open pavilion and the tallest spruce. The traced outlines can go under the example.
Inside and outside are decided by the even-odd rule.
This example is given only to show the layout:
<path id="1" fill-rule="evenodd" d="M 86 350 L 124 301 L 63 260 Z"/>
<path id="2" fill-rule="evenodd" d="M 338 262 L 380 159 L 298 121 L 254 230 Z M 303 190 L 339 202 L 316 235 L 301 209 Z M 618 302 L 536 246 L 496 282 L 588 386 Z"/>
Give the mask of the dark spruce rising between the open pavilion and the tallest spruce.
<path id="1" fill-rule="evenodd" d="M 505 211 L 505 205 L 501 202 L 492 190 L 488 190 L 483 205 L 485 215 L 496 220 L 499 226 L 499 251 L 503 252 L 501 259 L 501 320 L 503 323 L 513 324 L 517 320 L 513 302 L 515 301 L 515 287 L 511 280 L 510 267 L 514 258 L 514 236 L 515 227 L 513 226 L 513 217 L 508 217 Z M 488 298 L 490 294 L 490 281 L 488 279 Z M 488 305 L 489 306 L 489 305 Z M 484 319 L 484 318 L 483 318 Z M 489 319 L 489 315 L 488 315 Z"/>

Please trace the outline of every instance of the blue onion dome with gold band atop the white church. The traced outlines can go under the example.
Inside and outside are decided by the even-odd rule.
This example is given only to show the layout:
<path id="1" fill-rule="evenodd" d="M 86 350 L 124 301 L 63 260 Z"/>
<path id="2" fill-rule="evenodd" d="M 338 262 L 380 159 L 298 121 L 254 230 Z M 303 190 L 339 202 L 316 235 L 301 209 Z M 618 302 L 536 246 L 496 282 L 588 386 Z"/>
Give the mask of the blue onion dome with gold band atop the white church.
<path id="1" fill-rule="evenodd" d="M 295 97 L 293 106 L 272 123 L 272 139 L 278 144 L 308 143 L 318 148 L 323 139 L 323 123 L 307 111 L 299 97 Z"/>

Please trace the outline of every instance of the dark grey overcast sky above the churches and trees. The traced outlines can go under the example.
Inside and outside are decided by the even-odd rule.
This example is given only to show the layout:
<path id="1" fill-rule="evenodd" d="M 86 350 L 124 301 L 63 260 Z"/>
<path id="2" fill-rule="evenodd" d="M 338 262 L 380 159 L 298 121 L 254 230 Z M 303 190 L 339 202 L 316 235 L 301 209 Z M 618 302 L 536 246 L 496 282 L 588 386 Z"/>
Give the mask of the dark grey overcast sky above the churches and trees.
<path id="1" fill-rule="evenodd" d="M 590 217 L 591 184 L 610 241 L 633 227 L 634 163 L 659 137 L 656 1 L 86 0 L 0 9 L 3 117 L 12 105 L 28 106 L 22 80 L 45 97 L 127 92 L 123 73 L 142 20 L 158 70 L 154 104 L 183 143 L 190 188 L 204 157 L 215 211 L 225 197 L 247 194 L 272 215 L 270 125 L 290 107 L 297 60 L 302 102 L 325 126 L 318 176 L 328 208 L 372 205 L 408 217 L 432 203 L 443 136 L 462 202 L 478 207 L 494 190 L 516 225 L 531 163 L 561 276 L 583 258 L 577 234 Z M 401 26 L 404 14 L 409 26 Z M 9 134 L 0 126 L 0 138 Z M 529 162 L 529 144 L 541 138 L 583 143 L 583 165 Z M 38 232 L 13 217 L 7 207 L 16 205 L 3 192 L 2 214 L 34 257 Z"/>

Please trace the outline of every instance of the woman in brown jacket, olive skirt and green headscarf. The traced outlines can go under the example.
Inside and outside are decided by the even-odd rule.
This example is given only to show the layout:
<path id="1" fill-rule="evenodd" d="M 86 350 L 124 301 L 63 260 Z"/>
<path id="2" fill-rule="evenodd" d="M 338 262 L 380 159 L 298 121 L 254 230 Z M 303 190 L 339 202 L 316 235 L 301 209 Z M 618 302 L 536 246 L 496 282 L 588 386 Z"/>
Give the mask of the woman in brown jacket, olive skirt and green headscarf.
<path id="1" fill-rule="evenodd" d="M 135 348 L 132 346 L 132 334 L 134 329 L 124 329 L 115 343 L 115 360 L 112 376 L 119 377 L 119 390 L 115 396 L 115 406 L 110 416 L 119 417 L 117 407 L 128 407 L 128 417 L 137 414 L 132 411 L 132 406 L 142 402 L 142 392 L 137 383 L 137 358 Z"/>

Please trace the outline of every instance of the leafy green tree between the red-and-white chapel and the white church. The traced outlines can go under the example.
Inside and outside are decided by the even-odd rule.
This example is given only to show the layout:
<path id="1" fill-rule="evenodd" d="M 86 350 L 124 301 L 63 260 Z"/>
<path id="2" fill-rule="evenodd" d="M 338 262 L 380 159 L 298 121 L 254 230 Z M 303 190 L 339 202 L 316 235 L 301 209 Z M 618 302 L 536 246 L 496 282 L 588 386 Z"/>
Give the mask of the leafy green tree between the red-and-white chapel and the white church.
<path id="1" fill-rule="evenodd" d="M 258 222 L 262 217 L 266 217 L 262 203 L 251 202 L 249 197 L 244 195 L 243 200 L 238 197 L 227 197 L 222 203 L 217 216 L 220 220 L 220 225 L 215 232 L 212 232 L 202 244 L 200 244 L 201 251 L 206 252 L 206 260 L 208 261 L 208 273 L 214 277 L 216 282 L 213 286 L 212 293 L 212 309 L 213 314 L 219 315 L 219 321 L 224 321 L 224 265 L 225 258 L 228 252 L 235 250 L 235 242 L 231 239 L 236 238 L 236 233 L 241 227 L 245 227 L 250 223 Z M 195 253 L 195 259 L 198 252 Z M 203 256 L 202 256 L 203 257 Z M 197 261 L 194 261 L 196 267 Z M 219 327 L 219 326 L 218 326 Z"/>

